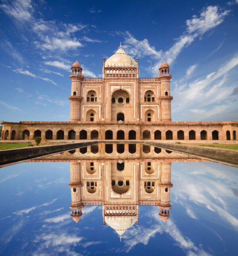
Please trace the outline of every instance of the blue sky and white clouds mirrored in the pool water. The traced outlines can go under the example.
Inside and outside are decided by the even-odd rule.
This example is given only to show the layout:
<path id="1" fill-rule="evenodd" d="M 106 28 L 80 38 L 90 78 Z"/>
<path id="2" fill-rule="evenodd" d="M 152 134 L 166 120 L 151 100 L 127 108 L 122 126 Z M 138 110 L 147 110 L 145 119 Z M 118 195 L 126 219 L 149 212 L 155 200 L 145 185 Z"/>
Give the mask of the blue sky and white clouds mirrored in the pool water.
<path id="1" fill-rule="evenodd" d="M 171 211 L 163 223 L 154 206 L 140 206 L 139 225 L 118 234 L 102 225 L 102 207 L 71 218 L 69 162 L 21 163 L 0 169 L 1 255 L 235 256 L 237 168 L 173 162 Z"/>

